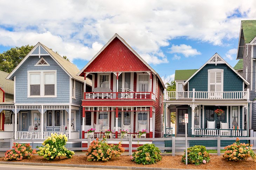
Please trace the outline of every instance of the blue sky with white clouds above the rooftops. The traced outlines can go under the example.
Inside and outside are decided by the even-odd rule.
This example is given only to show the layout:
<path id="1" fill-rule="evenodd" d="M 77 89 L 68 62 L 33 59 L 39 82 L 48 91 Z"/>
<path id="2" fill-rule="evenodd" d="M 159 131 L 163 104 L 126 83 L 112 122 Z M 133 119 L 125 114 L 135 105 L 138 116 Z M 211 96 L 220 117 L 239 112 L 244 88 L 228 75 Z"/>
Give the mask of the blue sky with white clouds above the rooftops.
<path id="1" fill-rule="evenodd" d="M 234 66 L 241 20 L 255 19 L 255 6 L 247 0 L 1 1 L 0 52 L 41 42 L 81 69 L 117 33 L 169 80 L 176 69 L 199 68 L 216 52 Z"/>

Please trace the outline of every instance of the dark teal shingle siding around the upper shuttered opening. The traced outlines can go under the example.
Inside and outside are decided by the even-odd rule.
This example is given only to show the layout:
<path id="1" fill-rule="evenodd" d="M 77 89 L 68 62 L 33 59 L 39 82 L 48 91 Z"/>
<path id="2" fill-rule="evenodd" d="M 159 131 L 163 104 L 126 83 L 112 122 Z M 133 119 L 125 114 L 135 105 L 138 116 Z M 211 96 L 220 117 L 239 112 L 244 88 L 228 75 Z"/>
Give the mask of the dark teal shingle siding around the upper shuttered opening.
<path id="1" fill-rule="evenodd" d="M 243 80 L 226 64 L 207 64 L 189 80 L 189 91 L 208 91 L 208 69 L 223 69 L 223 91 L 242 91 Z"/>

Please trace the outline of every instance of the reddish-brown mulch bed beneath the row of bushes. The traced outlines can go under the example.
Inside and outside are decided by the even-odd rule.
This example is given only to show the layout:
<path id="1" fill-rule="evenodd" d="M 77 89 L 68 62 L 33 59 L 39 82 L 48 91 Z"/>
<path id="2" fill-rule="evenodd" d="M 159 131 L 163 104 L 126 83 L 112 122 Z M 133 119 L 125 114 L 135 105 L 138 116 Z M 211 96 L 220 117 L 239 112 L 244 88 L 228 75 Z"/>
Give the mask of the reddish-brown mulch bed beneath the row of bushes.
<path id="1" fill-rule="evenodd" d="M 181 162 L 181 155 L 163 156 L 162 161 L 151 165 L 136 164 L 130 160 L 130 156 L 120 156 L 113 158 L 108 162 L 87 161 L 86 156 L 73 156 L 68 158 L 56 158 L 54 161 L 47 161 L 42 156 L 33 156 L 30 159 L 23 159 L 15 162 L 33 162 L 33 163 L 60 163 L 60 164 L 85 164 L 85 165 L 109 165 L 109 166 L 124 166 L 124 167 L 151 167 L 151 168 L 180 168 L 180 169 L 212 169 L 212 170 L 252 170 L 256 168 L 256 162 L 249 158 L 247 161 L 227 162 L 222 156 L 210 155 L 210 162 L 201 165 L 185 165 Z M 0 158 L 4 161 L 4 157 Z"/>

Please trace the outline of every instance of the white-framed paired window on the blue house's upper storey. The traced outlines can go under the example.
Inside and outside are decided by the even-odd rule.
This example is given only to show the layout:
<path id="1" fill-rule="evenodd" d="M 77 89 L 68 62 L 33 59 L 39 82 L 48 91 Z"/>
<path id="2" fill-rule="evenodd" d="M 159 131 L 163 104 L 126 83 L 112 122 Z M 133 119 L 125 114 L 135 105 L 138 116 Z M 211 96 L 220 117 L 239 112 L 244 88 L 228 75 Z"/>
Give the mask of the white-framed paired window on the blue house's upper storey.
<path id="1" fill-rule="evenodd" d="M 56 71 L 28 71 L 28 97 L 56 97 Z"/>

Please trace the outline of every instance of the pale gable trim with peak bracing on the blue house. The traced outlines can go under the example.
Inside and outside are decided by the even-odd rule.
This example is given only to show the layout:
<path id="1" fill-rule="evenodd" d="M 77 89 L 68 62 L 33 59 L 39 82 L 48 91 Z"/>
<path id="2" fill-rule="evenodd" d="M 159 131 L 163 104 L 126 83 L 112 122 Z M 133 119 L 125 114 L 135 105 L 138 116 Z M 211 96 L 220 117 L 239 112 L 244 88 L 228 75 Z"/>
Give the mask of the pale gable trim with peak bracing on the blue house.
<path id="1" fill-rule="evenodd" d="M 38 46 L 41 46 L 46 52 L 48 52 L 48 50 L 46 50 L 45 49 L 45 47 L 40 43 L 40 42 L 38 42 L 35 46 L 34 46 L 34 48 L 27 54 L 27 56 L 20 62 L 20 64 L 18 64 L 18 66 L 16 66 L 15 68 L 14 68 L 14 70 L 6 77 L 6 79 L 10 79 L 11 77 L 12 77 L 12 75 L 18 70 L 18 68 L 23 64 L 23 62 L 25 62 L 27 59 L 28 59 L 28 57 L 29 56 L 33 56 L 33 55 L 31 55 L 32 53 L 33 53 L 33 51 L 36 49 L 36 47 L 38 47 Z M 39 48 L 40 49 L 40 48 Z M 49 52 L 48 52 L 49 53 Z M 37 54 L 36 54 L 37 55 Z M 61 65 L 60 65 L 60 63 L 49 53 L 49 54 L 44 54 L 44 55 L 47 55 L 47 56 L 50 56 L 50 57 L 52 57 L 52 59 L 68 74 L 68 76 L 69 77 L 72 77 L 67 71 L 66 71 L 66 69 L 64 69 Z M 38 55 L 37 55 L 38 56 Z M 72 77 L 73 78 L 73 77 Z M 11 80 L 11 79 L 10 79 Z"/>

